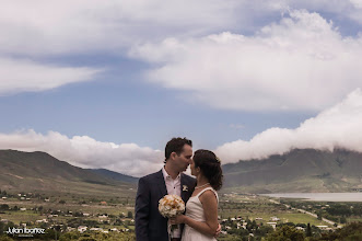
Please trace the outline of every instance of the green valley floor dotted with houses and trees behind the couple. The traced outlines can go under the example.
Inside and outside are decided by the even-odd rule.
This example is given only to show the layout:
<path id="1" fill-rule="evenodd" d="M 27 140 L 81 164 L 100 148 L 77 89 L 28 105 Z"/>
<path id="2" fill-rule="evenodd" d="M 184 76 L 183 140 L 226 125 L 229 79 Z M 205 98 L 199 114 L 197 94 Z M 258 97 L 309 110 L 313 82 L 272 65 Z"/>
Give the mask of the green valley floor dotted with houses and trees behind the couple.
<path id="1" fill-rule="evenodd" d="M 48 234 L 51 237 L 58 230 L 57 236 L 63 240 L 80 240 L 82 237 L 93 237 L 94 240 L 133 240 L 136 188 L 128 187 L 124 191 L 113 193 L 96 190 L 79 195 L 51 192 L 7 193 L 7 198 L 0 199 L 0 223 L 16 227 L 26 223 L 27 228 L 45 228 L 50 230 Z M 256 240 L 261 240 L 276 226 L 285 223 L 302 230 L 310 223 L 315 233 L 323 232 L 317 226 L 335 229 L 334 225 L 302 214 L 288 205 L 301 208 L 306 204 L 304 200 L 278 203 L 265 196 L 221 192 L 219 216 L 223 233 L 219 239 L 243 240 L 253 233 Z M 323 207 L 322 204 L 307 206 L 312 213 Z M 358 220 L 362 220 L 362 217 L 351 216 L 347 222 Z M 276 222 L 275 227 L 268 222 Z M 86 227 L 86 230 L 83 231 L 80 227 Z"/>

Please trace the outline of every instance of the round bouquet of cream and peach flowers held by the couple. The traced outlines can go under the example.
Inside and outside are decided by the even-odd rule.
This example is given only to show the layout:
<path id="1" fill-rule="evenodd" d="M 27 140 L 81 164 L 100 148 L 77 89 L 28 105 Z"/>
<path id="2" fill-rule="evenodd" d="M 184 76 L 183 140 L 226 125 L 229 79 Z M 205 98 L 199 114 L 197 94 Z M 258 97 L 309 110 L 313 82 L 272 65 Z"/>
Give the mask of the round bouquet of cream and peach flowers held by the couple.
<path id="1" fill-rule="evenodd" d="M 185 211 L 185 203 L 177 195 L 166 195 L 159 200 L 159 211 L 165 218 L 173 218 L 182 215 Z M 168 226 L 168 233 L 171 234 L 177 225 Z"/>

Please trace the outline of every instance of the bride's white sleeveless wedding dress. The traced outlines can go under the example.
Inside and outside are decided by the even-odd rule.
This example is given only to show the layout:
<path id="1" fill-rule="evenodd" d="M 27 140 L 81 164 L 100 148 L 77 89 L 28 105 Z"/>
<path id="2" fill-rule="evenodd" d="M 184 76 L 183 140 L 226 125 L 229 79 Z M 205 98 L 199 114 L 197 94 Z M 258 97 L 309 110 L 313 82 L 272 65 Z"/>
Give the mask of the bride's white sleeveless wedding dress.
<path id="1" fill-rule="evenodd" d="M 190 197 L 188 199 L 188 202 L 186 204 L 186 216 L 190 217 L 191 219 L 194 219 L 196 221 L 206 221 L 202 204 L 199 199 L 199 196 L 208 190 L 211 190 L 215 194 L 218 203 L 219 203 L 219 197 L 218 197 L 217 191 L 214 191 L 212 187 L 207 187 L 207 188 L 202 190 L 198 195 Z M 217 240 L 214 237 L 206 236 L 206 234 L 192 229 L 188 225 L 185 225 L 182 237 L 183 237 L 182 241 L 214 241 L 214 240 Z"/>

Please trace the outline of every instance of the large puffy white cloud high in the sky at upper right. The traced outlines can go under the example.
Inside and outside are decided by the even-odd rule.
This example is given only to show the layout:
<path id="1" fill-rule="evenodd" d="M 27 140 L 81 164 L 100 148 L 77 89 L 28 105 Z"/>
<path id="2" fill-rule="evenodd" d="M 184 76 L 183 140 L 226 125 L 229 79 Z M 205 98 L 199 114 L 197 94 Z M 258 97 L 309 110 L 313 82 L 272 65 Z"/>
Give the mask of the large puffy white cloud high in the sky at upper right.
<path id="1" fill-rule="evenodd" d="M 307 11 L 292 11 L 255 36 L 167 38 L 130 56 L 156 66 L 148 73 L 154 83 L 217 108 L 319 111 L 362 83 L 362 36 L 343 37 Z"/>

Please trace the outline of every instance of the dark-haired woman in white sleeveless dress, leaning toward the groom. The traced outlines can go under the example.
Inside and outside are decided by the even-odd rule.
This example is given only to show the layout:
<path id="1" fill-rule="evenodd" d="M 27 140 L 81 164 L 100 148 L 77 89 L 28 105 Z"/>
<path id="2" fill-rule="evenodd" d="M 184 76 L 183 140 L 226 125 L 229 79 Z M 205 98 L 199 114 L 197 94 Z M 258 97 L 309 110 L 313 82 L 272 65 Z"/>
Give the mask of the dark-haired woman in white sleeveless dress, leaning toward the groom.
<path id="1" fill-rule="evenodd" d="M 171 223 L 185 223 L 182 241 L 217 240 L 217 191 L 221 188 L 223 177 L 220 160 L 212 151 L 197 150 L 190 168 L 191 174 L 197 179 L 197 185 L 186 204 L 186 215 L 171 219 Z"/>

